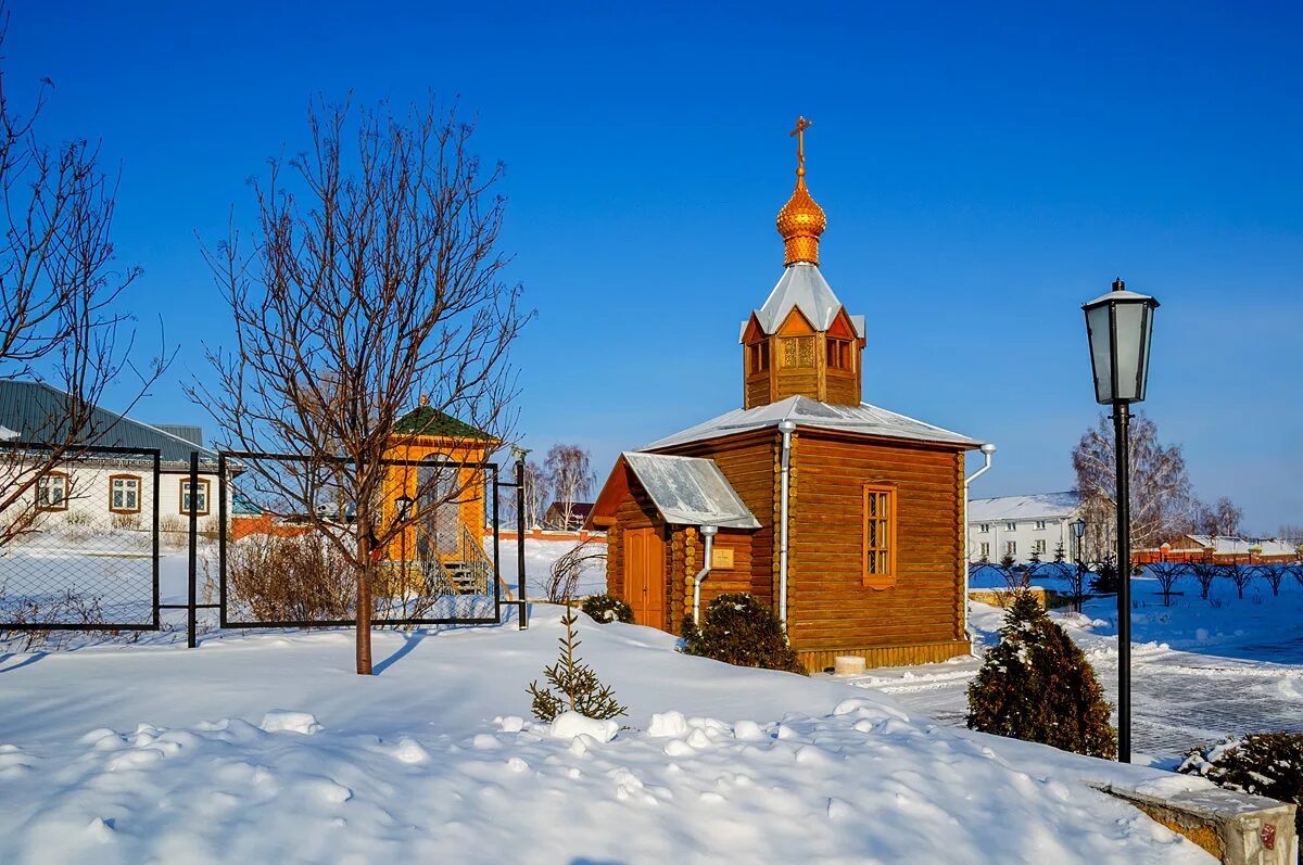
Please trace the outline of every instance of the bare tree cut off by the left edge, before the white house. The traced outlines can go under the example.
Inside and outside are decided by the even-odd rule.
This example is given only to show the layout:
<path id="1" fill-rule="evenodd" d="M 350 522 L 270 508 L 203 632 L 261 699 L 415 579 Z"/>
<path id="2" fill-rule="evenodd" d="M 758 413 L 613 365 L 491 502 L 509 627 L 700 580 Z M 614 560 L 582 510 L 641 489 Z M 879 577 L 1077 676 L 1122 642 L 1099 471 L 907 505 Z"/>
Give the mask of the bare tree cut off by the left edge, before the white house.
<path id="1" fill-rule="evenodd" d="M 8 25 L 0 3 L 0 47 Z M 9 104 L 0 69 L 0 386 L 51 388 L 23 429 L 0 427 L 0 444 L 8 444 L 0 449 L 0 547 L 38 521 L 40 478 L 103 443 L 116 421 L 95 410 L 106 388 L 132 374 L 130 393 L 115 406 L 126 413 L 167 367 L 163 357 L 133 363 L 134 333 L 120 300 L 141 268 L 117 262 L 117 178 L 100 168 L 99 145 L 79 138 L 51 147 L 38 132 L 52 87 L 43 81 L 22 113 Z M 65 494 L 78 495 L 72 483 Z"/>

